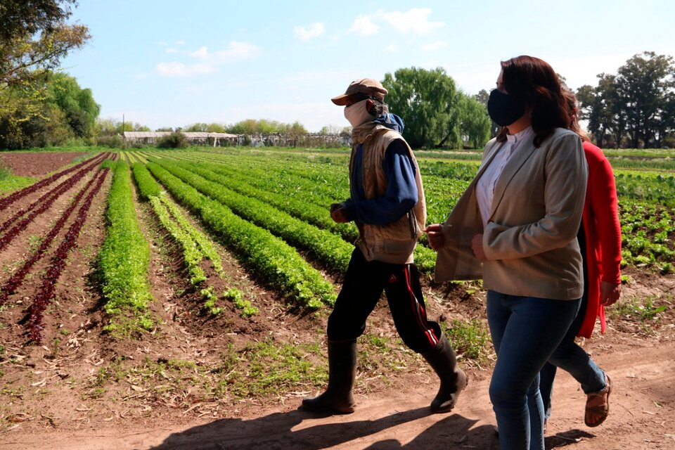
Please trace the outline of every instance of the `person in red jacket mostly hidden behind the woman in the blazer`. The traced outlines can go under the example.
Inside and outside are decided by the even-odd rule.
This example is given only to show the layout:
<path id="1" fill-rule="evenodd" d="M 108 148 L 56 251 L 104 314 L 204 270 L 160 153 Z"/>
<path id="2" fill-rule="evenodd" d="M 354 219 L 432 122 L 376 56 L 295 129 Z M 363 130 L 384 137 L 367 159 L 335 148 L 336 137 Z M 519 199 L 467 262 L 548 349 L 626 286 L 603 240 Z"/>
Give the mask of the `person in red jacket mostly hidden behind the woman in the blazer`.
<path id="1" fill-rule="evenodd" d="M 597 427 L 605 421 L 610 411 L 609 397 L 612 390 L 610 378 L 598 368 L 589 354 L 574 342 L 576 336 L 590 338 L 596 319 L 600 317 L 600 330 L 605 333 L 605 306 L 619 300 L 621 295 L 621 225 L 617 205 L 617 188 L 610 162 L 603 150 L 589 142 L 581 131 L 577 113 L 577 98 L 569 89 L 563 94 L 570 114 L 569 128 L 579 134 L 589 165 L 589 181 L 581 226 L 577 234 L 581 257 L 584 261 L 584 294 L 581 308 L 563 342 L 539 373 L 539 390 L 544 400 L 546 420 L 551 416 L 551 394 L 556 366 L 572 374 L 586 393 L 584 423 Z"/>

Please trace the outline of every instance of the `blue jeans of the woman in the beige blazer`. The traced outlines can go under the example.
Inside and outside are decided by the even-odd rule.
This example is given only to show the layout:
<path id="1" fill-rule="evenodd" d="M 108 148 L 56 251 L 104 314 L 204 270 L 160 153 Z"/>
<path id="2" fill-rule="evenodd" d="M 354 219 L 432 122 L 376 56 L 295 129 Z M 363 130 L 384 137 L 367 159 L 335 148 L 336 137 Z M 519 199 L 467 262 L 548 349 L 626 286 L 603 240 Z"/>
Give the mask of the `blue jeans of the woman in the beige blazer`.
<path id="1" fill-rule="evenodd" d="M 579 300 L 550 300 L 487 291 L 487 321 L 497 362 L 490 400 L 501 450 L 544 450 L 539 371 L 563 340 Z"/>

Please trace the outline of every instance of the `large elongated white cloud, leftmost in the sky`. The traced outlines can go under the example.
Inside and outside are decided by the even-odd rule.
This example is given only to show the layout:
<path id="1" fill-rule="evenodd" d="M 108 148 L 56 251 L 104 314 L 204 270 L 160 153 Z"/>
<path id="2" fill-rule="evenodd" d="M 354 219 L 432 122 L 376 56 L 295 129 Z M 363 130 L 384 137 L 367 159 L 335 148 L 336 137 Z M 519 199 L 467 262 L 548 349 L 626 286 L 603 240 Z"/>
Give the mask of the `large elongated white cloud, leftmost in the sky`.
<path id="1" fill-rule="evenodd" d="M 177 53 L 176 49 L 167 49 L 167 53 Z M 235 61 L 256 58 L 260 53 L 260 48 L 248 42 L 231 41 L 228 48 L 211 52 L 208 47 L 203 46 L 188 53 L 191 58 L 197 59 L 199 63 L 179 63 L 172 61 L 170 63 L 159 63 L 155 69 L 163 77 L 191 77 L 194 75 L 207 75 L 217 72 L 219 65 L 233 63 Z"/>

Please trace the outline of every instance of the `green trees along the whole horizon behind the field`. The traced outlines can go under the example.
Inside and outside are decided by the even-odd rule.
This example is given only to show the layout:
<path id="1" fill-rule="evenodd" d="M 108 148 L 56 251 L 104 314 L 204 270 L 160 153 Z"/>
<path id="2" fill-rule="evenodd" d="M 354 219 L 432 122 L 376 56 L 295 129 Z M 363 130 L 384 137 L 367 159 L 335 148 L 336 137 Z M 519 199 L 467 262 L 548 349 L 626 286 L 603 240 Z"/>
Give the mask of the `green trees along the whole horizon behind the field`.
<path id="1" fill-rule="evenodd" d="M 135 122 L 100 119 L 90 89 L 57 72 L 69 51 L 91 39 L 85 25 L 69 25 L 75 0 L 0 2 L 0 148 L 70 144 L 115 145 L 124 131 L 150 131 Z M 562 78 L 562 77 L 561 77 Z M 482 148 L 498 131 L 487 114 L 487 90 L 457 89 L 442 68 L 401 68 L 385 74 L 390 111 L 406 124 L 413 148 Z M 600 147 L 675 147 L 675 65 L 671 56 L 645 51 L 616 75 L 577 89 L 581 120 Z M 155 131 L 211 131 L 244 136 L 285 136 L 297 143 L 299 122 L 247 119 L 236 124 L 196 123 Z M 349 127 L 328 126 L 320 135 L 349 138 Z"/>

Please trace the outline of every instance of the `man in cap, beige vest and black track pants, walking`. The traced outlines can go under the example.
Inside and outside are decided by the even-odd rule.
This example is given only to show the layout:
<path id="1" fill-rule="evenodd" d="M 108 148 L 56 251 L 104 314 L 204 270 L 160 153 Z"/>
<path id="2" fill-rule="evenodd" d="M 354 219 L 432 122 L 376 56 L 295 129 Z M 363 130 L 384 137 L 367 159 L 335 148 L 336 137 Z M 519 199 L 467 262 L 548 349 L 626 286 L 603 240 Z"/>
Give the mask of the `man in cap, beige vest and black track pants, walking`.
<path id="1" fill-rule="evenodd" d="M 438 323 L 429 321 L 413 250 L 427 217 L 420 170 L 401 136 L 403 120 L 390 114 L 387 89 L 376 79 L 357 79 L 345 94 L 332 98 L 345 106 L 352 124 L 349 160 L 351 198 L 330 205 L 335 222 L 355 221 L 356 248 L 342 290 L 328 317 L 328 387 L 304 399 L 310 411 L 352 413 L 356 375 L 356 338 L 383 291 L 397 332 L 414 352 L 424 356 L 440 378 L 431 403 L 435 413 L 450 411 L 466 385 L 455 353 Z"/>

